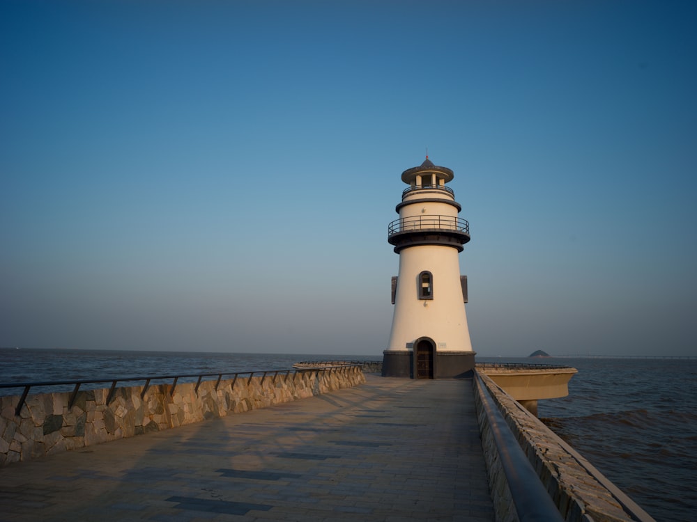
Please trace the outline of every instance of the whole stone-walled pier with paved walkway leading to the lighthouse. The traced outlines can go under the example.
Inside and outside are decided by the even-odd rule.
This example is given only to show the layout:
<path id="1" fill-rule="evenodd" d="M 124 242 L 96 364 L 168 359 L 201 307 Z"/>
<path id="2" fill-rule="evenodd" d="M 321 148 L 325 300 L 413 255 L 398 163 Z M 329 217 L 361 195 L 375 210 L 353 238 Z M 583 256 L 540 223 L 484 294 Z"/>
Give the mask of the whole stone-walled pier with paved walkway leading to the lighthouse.
<path id="1" fill-rule="evenodd" d="M 653 520 L 491 368 L 434 380 L 378 367 L 0 385 L 24 388 L 0 397 L 0 522 Z"/>

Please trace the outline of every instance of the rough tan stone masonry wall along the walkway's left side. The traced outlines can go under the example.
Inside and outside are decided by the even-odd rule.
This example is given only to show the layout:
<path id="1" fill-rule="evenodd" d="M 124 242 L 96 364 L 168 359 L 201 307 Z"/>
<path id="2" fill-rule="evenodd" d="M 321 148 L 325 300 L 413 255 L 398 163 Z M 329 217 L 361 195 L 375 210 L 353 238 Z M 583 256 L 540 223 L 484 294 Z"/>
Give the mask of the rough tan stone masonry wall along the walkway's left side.
<path id="1" fill-rule="evenodd" d="M 263 382 L 262 382 L 263 381 Z M 70 392 L 42 393 L 26 398 L 20 416 L 15 409 L 20 397 L 0 397 L 0 466 L 36 459 L 46 454 L 74 450 L 159 432 L 264 408 L 365 382 L 360 367 L 309 370 L 293 374 L 179 383 L 170 395 L 171 385 L 153 385 L 141 399 L 142 386 L 117 388 L 109 404 L 109 390 L 79 392 L 68 408 Z"/>

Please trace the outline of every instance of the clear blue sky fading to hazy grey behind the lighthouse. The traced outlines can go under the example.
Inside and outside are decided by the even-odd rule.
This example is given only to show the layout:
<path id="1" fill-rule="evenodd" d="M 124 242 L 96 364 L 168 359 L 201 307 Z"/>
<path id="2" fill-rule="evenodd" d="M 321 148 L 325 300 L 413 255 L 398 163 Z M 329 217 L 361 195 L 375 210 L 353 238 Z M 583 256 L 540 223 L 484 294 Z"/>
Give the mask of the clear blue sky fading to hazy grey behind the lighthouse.
<path id="1" fill-rule="evenodd" d="M 452 168 L 479 356 L 697 355 L 697 3 L 3 1 L 0 346 L 380 356 Z"/>

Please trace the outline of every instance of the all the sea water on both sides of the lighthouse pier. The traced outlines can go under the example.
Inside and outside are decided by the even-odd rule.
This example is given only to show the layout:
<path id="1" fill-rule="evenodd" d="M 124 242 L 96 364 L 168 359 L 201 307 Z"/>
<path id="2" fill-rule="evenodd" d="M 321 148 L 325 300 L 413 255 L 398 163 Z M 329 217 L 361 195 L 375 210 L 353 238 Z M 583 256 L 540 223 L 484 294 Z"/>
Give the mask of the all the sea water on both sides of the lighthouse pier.
<path id="1" fill-rule="evenodd" d="M 287 370 L 318 359 L 373 356 L 0 349 L 0 383 Z M 530 362 L 527 358 L 478 361 Z M 576 367 L 569 396 L 539 416 L 659 521 L 697 520 L 697 360 L 558 358 Z M 190 379 L 192 380 L 192 379 Z M 193 379 L 195 380 L 195 379 Z M 44 391 L 46 388 L 38 391 Z M 1 395 L 19 390 L 2 390 Z"/>

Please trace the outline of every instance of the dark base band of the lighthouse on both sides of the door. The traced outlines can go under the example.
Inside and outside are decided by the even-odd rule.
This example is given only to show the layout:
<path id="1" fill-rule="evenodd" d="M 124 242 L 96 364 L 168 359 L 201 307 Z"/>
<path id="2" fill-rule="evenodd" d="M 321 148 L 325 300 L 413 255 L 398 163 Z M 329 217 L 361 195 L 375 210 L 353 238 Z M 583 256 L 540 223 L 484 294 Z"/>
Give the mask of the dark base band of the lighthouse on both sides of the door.
<path id="1" fill-rule="evenodd" d="M 434 377 L 461 379 L 472 377 L 475 368 L 474 351 L 436 351 Z M 413 351 L 383 351 L 383 377 L 414 377 Z"/>

